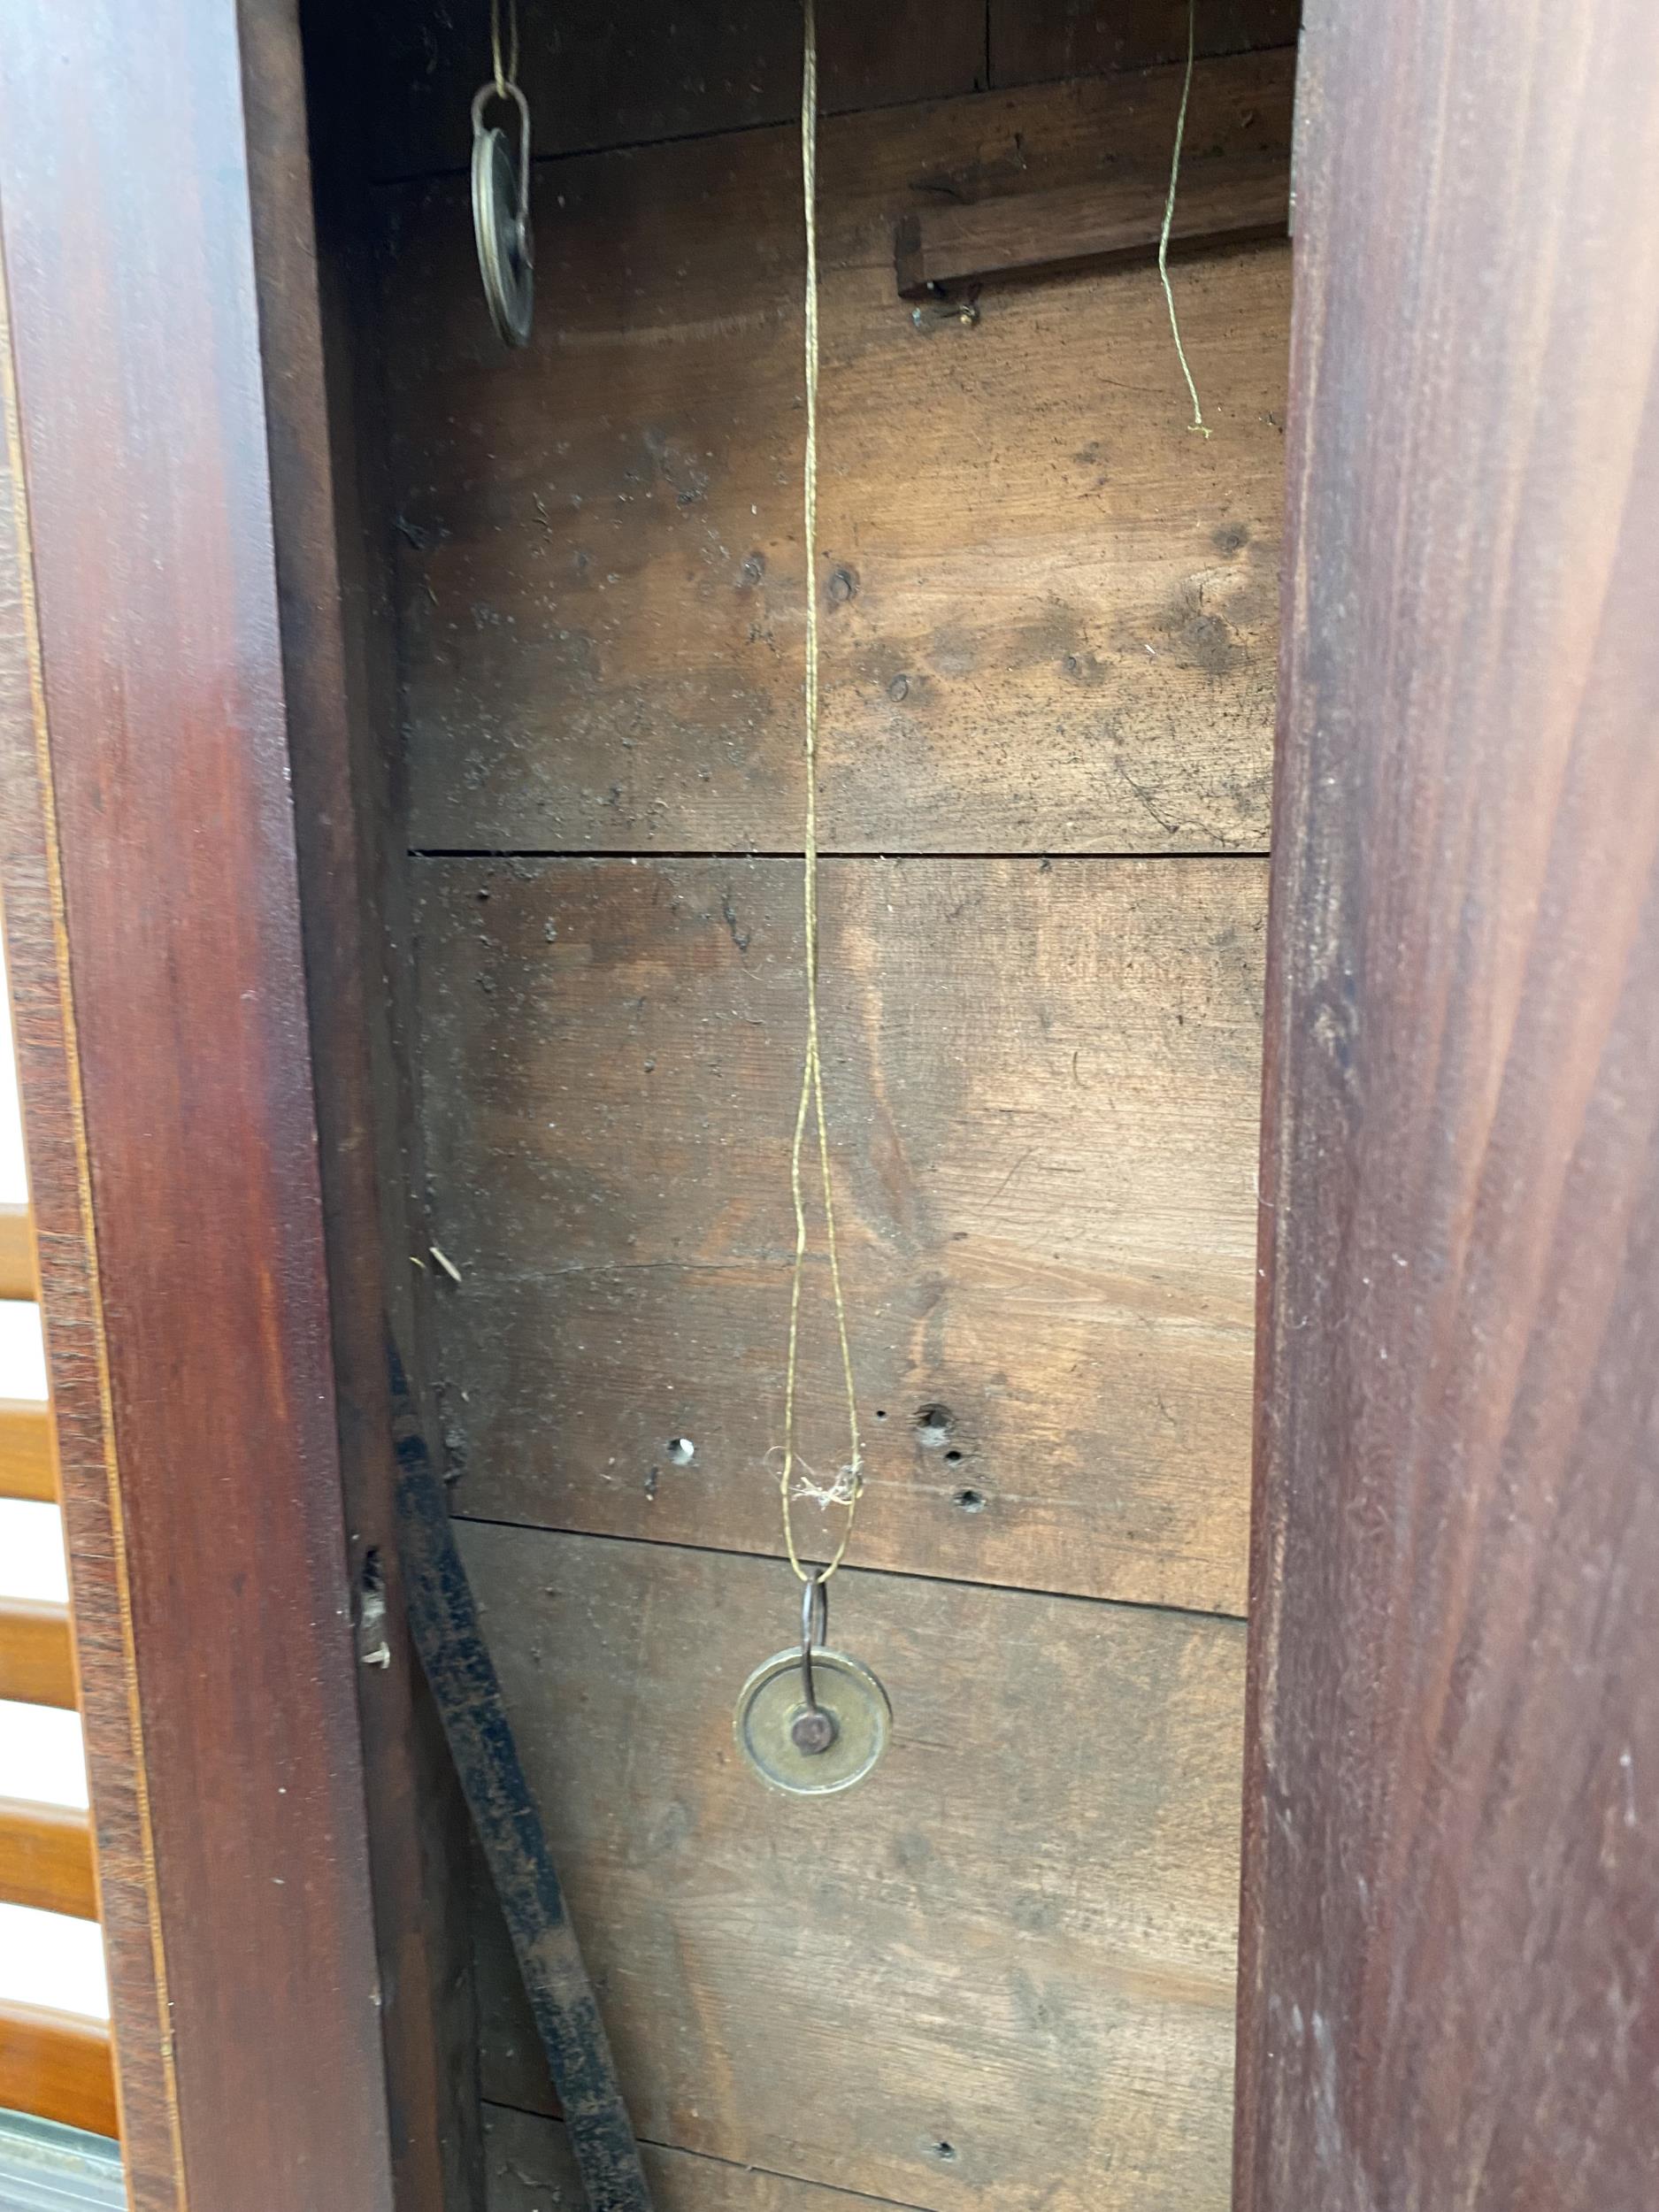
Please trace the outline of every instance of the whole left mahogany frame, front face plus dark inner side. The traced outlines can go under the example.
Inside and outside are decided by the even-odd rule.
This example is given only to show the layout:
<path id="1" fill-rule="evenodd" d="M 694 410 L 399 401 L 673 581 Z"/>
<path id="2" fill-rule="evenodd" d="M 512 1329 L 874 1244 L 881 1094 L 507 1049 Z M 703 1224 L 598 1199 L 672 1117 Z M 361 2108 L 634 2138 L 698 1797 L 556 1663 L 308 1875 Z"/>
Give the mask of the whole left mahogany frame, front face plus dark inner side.
<path id="1" fill-rule="evenodd" d="M 471 2053 L 292 0 L 2 0 L 0 246 L 0 876 L 131 2201 L 440 2212 Z"/>

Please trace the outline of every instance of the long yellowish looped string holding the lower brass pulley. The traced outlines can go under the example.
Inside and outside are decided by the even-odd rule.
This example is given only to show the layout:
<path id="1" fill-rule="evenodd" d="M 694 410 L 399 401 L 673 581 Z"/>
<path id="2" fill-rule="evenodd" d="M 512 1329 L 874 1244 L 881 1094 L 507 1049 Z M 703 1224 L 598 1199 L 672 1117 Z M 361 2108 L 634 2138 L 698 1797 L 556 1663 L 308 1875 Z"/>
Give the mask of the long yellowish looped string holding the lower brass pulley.
<path id="1" fill-rule="evenodd" d="M 805 717 L 803 750 L 807 779 L 807 814 L 803 836 L 801 898 L 805 925 L 805 987 L 807 987 L 807 1044 L 801 1062 L 801 1097 L 794 1110 L 794 1141 L 790 1146 L 790 1194 L 794 1199 L 794 1272 L 790 1276 L 790 1352 L 783 1369 L 783 1467 L 779 1473 L 779 1498 L 783 1502 L 783 1546 L 790 1566 L 801 1582 L 827 1582 L 847 1557 L 852 1522 L 863 1491 L 863 1451 L 858 1447 L 858 1387 L 852 1374 L 852 1345 L 847 1340 L 847 1301 L 841 1290 L 841 1254 L 836 1252 L 836 1201 L 830 1183 L 830 1124 L 823 1106 L 823 1064 L 818 1057 L 818 24 L 814 0 L 803 0 L 805 35 L 801 62 L 801 197 L 805 201 L 807 270 L 805 270 L 805 387 L 807 387 L 807 438 L 801 478 L 801 520 L 807 562 L 807 668 L 805 668 Z M 801 1374 L 801 1283 L 807 1263 L 807 1203 L 803 1152 L 807 1117 L 812 1115 L 818 1135 L 818 1179 L 823 1183 L 823 1237 L 830 1259 L 830 1296 L 836 1312 L 836 1336 L 841 1340 L 841 1374 L 847 1389 L 847 1438 L 849 1458 L 836 1480 L 821 1486 L 812 1478 L 805 1460 L 796 1451 L 796 1398 Z M 801 1564 L 794 1540 L 796 1495 L 816 1498 L 821 1506 L 841 1506 L 841 1542 L 830 1564 L 814 1571 Z"/>

